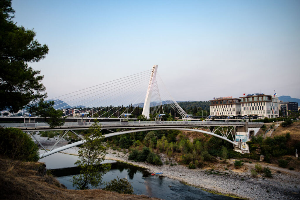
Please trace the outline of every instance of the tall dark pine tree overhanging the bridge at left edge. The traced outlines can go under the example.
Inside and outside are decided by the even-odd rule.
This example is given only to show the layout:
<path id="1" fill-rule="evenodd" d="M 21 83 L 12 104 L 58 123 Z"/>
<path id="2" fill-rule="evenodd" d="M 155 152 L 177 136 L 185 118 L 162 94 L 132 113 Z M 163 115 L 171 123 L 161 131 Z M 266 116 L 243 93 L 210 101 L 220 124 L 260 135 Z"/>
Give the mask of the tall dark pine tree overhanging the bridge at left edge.
<path id="1" fill-rule="evenodd" d="M 44 102 L 46 88 L 40 83 L 44 76 L 27 64 L 43 59 L 48 46 L 34 40 L 33 30 L 13 22 L 15 11 L 10 0 L 2 1 L 0 12 L 0 110 L 18 112 L 26 107 L 30 113 L 45 117 L 51 127 L 61 125 L 62 112 L 52 107 L 53 101 Z"/>

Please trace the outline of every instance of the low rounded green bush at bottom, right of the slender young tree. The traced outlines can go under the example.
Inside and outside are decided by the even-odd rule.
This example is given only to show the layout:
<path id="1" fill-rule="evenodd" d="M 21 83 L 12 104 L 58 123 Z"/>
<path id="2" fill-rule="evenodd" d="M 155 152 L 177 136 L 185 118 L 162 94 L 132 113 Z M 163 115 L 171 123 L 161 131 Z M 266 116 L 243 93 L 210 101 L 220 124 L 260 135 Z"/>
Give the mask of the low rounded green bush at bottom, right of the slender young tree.
<path id="1" fill-rule="evenodd" d="M 133 187 L 126 178 L 113 179 L 108 182 L 103 190 L 117 192 L 120 194 L 133 194 Z"/>

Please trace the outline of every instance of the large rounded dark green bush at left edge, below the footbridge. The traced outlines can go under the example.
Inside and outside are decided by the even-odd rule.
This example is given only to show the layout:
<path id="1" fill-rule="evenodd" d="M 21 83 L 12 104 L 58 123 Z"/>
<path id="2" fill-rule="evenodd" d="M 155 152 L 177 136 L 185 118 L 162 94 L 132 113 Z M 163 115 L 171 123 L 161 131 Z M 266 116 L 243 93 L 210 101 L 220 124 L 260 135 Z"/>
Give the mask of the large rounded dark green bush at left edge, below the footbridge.
<path id="1" fill-rule="evenodd" d="M 39 160 L 38 146 L 18 128 L 0 128 L 0 154 L 11 160 Z"/>

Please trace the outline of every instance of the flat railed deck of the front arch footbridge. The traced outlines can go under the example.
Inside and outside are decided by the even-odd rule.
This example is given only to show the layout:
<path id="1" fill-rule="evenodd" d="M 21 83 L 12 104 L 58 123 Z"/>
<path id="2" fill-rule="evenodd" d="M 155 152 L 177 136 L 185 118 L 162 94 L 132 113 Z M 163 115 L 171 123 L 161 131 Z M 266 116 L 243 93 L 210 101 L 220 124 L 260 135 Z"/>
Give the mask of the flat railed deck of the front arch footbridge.
<path id="1" fill-rule="evenodd" d="M 19 128 L 22 131 L 50 131 L 50 130 L 75 130 L 88 129 L 94 122 L 66 122 L 60 127 L 50 128 L 47 123 L 6 123 L 0 127 Z M 244 126 L 246 122 L 99 122 L 102 129 L 112 128 L 151 128 L 151 127 L 199 127 L 199 126 Z M 252 127 L 261 127 L 263 122 L 248 122 Z"/>

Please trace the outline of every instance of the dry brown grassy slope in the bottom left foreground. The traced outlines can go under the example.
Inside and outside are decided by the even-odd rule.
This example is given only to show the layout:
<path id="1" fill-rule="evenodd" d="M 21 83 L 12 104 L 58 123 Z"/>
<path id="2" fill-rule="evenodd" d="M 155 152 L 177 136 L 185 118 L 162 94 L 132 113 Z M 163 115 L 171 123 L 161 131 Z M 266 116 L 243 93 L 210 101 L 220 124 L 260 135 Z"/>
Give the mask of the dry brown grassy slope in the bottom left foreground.
<path id="1" fill-rule="evenodd" d="M 7 172 L 6 162 L 0 160 L 1 199 L 149 199 L 104 190 L 67 190 L 55 178 L 45 175 L 43 163 L 21 162 Z"/>

